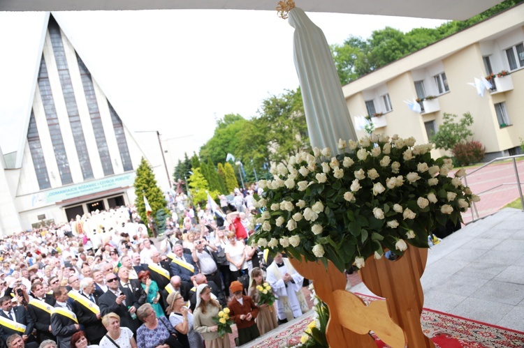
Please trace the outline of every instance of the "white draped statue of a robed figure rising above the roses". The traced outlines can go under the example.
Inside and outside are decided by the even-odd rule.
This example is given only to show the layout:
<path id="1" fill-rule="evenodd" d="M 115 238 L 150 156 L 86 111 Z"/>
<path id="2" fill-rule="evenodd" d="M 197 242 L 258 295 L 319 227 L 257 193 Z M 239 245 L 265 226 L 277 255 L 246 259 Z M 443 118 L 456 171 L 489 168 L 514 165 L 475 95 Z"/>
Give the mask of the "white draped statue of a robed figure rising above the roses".
<path id="1" fill-rule="evenodd" d="M 300 8 L 289 11 L 294 59 L 312 146 L 337 151 L 338 139 L 356 139 L 333 56 L 322 30 Z"/>

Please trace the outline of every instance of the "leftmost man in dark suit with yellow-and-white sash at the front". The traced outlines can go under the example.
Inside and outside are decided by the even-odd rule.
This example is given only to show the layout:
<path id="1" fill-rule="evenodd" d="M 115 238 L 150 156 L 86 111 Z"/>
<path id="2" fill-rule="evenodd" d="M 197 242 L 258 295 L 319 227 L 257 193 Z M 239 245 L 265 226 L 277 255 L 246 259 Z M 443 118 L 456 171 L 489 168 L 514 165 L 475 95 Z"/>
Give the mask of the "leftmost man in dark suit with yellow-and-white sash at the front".
<path id="1" fill-rule="evenodd" d="M 25 347 L 38 347 L 36 342 L 30 342 L 34 322 L 24 306 L 13 306 L 10 296 L 0 298 L 0 305 L 0 316 L 2 317 L 2 321 L 0 321 L 0 347 L 7 347 L 8 337 L 15 333 L 22 336 Z"/>

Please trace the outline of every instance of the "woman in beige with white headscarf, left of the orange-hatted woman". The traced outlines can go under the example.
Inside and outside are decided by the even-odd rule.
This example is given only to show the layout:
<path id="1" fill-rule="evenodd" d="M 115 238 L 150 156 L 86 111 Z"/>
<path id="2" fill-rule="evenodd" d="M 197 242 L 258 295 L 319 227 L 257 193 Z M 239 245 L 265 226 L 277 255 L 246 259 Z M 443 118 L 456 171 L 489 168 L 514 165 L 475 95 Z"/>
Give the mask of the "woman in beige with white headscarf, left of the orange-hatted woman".
<path id="1" fill-rule="evenodd" d="M 218 333 L 219 326 L 214 321 L 220 310 L 218 301 L 211 298 L 210 287 L 207 284 L 198 285 L 196 307 L 193 312 L 193 328 L 196 332 L 202 334 L 205 348 L 230 348 L 228 333 L 220 336 Z"/>

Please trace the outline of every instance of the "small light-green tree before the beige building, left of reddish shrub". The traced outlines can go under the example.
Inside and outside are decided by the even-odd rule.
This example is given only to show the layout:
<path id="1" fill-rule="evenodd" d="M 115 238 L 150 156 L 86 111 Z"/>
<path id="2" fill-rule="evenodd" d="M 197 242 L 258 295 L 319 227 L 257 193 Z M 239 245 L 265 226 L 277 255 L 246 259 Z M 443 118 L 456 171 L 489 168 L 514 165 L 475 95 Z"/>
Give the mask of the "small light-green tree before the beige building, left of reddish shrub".
<path id="1" fill-rule="evenodd" d="M 456 118 L 456 114 L 444 112 L 444 122 L 430 139 L 437 149 L 451 150 L 461 140 L 473 136 L 473 132 L 468 128 L 473 124 L 471 114 L 466 112 L 458 122 L 455 122 Z"/>

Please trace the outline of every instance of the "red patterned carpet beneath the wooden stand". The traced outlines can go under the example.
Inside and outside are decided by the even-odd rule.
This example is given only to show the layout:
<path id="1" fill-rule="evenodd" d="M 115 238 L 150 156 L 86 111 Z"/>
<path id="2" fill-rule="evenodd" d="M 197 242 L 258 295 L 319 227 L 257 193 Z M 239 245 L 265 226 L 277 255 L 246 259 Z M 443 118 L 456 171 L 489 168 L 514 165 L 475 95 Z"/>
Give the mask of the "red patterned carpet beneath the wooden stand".
<path id="1" fill-rule="evenodd" d="M 369 303 L 377 298 L 358 294 Z M 270 338 L 252 345 L 254 348 L 289 347 L 300 343 L 307 324 L 313 315 L 286 327 L 269 333 Z M 436 310 L 424 309 L 421 315 L 422 329 L 439 348 L 522 348 L 524 333 L 479 321 L 456 317 Z M 377 347 L 388 347 L 377 339 Z"/>

